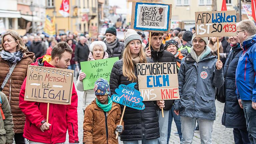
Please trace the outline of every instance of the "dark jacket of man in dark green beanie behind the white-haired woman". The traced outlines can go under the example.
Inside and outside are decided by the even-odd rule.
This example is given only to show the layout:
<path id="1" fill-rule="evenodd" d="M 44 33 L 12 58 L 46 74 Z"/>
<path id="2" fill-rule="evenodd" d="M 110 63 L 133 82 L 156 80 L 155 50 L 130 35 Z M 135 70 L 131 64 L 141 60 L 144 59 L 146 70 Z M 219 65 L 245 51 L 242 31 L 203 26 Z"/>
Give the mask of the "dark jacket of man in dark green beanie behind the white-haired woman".
<path id="1" fill-rule="evenodd" d="M 106 43 L 106 41 L 104 41 L 104 42 Z M 109 58 L 119 57 L 119 59 L 121 59 L 123 51 L 124 51 L 124 43 L 119 42 L 119 40 L 117 40 L 116 46 L 113 48 L 112 52 L 109 48 L 107 48 L 107 53 L 108 53 Z"/>

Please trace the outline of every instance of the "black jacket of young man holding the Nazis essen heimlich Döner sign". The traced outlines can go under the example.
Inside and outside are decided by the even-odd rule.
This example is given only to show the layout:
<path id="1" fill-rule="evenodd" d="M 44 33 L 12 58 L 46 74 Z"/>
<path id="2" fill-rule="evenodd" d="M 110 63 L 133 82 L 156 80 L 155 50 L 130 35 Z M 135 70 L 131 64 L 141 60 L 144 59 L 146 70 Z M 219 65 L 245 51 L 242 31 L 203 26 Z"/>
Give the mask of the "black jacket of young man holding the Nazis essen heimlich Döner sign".
<path id="1" fill-rule="evenodd" d="M 148 47 L 149 44 L 146 45 Z M 155 51 L 152 46 L 151 47 L 151 58 L 153 59 L 154 62 L 176 62 L 176 58 L 171 52 L 168 52 L 164 50 L 164 45 L 161 44 L 160 50 L 157 52 Z M 177 72 L 178 73 L 178 72 Z M 164 110 L 168 111 L 172 109 L 172 105 L 174 103 L 174 100 L 165 100 L 164 101 L 165 107 L 163 108 Z M 158 106 L 156 106 L 157 110 L 161 110 Z"/>

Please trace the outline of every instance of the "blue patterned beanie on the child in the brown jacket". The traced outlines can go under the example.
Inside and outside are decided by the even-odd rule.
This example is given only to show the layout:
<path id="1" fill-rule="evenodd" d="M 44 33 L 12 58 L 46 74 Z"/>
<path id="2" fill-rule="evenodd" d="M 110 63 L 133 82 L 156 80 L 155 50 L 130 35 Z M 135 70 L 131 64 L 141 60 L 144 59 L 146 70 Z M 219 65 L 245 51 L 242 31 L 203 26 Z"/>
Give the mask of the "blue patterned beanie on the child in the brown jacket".
<path id="1" fill-rule="evenodd" d="M 95 82 L 93 90 L 95 91 L 95 95 L 110 95 L 110 88 L 109 88 L 108 81 L 103 78 L 99 78 Z"/>

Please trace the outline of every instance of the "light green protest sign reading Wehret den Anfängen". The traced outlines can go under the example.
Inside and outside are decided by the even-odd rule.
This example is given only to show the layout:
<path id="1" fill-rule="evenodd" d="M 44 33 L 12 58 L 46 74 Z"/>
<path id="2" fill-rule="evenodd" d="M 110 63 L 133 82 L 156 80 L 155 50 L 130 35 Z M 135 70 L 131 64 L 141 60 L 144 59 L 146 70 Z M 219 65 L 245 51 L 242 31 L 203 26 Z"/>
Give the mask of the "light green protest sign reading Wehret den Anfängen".
<path id="1" fill-rule="evenodd" d="M 86 74 L 83 80 L 84 90 L 93 89 L 94 83 L 99 78 L 109 82 L 111 70 L 118 57 L 81 62 L 81 70 Z"/>

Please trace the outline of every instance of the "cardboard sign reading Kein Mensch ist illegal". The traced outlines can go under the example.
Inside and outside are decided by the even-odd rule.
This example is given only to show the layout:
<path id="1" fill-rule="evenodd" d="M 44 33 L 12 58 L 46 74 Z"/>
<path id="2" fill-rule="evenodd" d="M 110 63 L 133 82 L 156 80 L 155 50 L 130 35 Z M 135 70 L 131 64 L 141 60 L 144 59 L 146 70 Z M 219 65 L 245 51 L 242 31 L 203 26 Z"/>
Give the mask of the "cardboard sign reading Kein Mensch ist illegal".
<path id="1" fill-rule="evenodd" d="M 24 100 L 69 105 L 73 77 L 73 70 L 29 65 Z"/>

